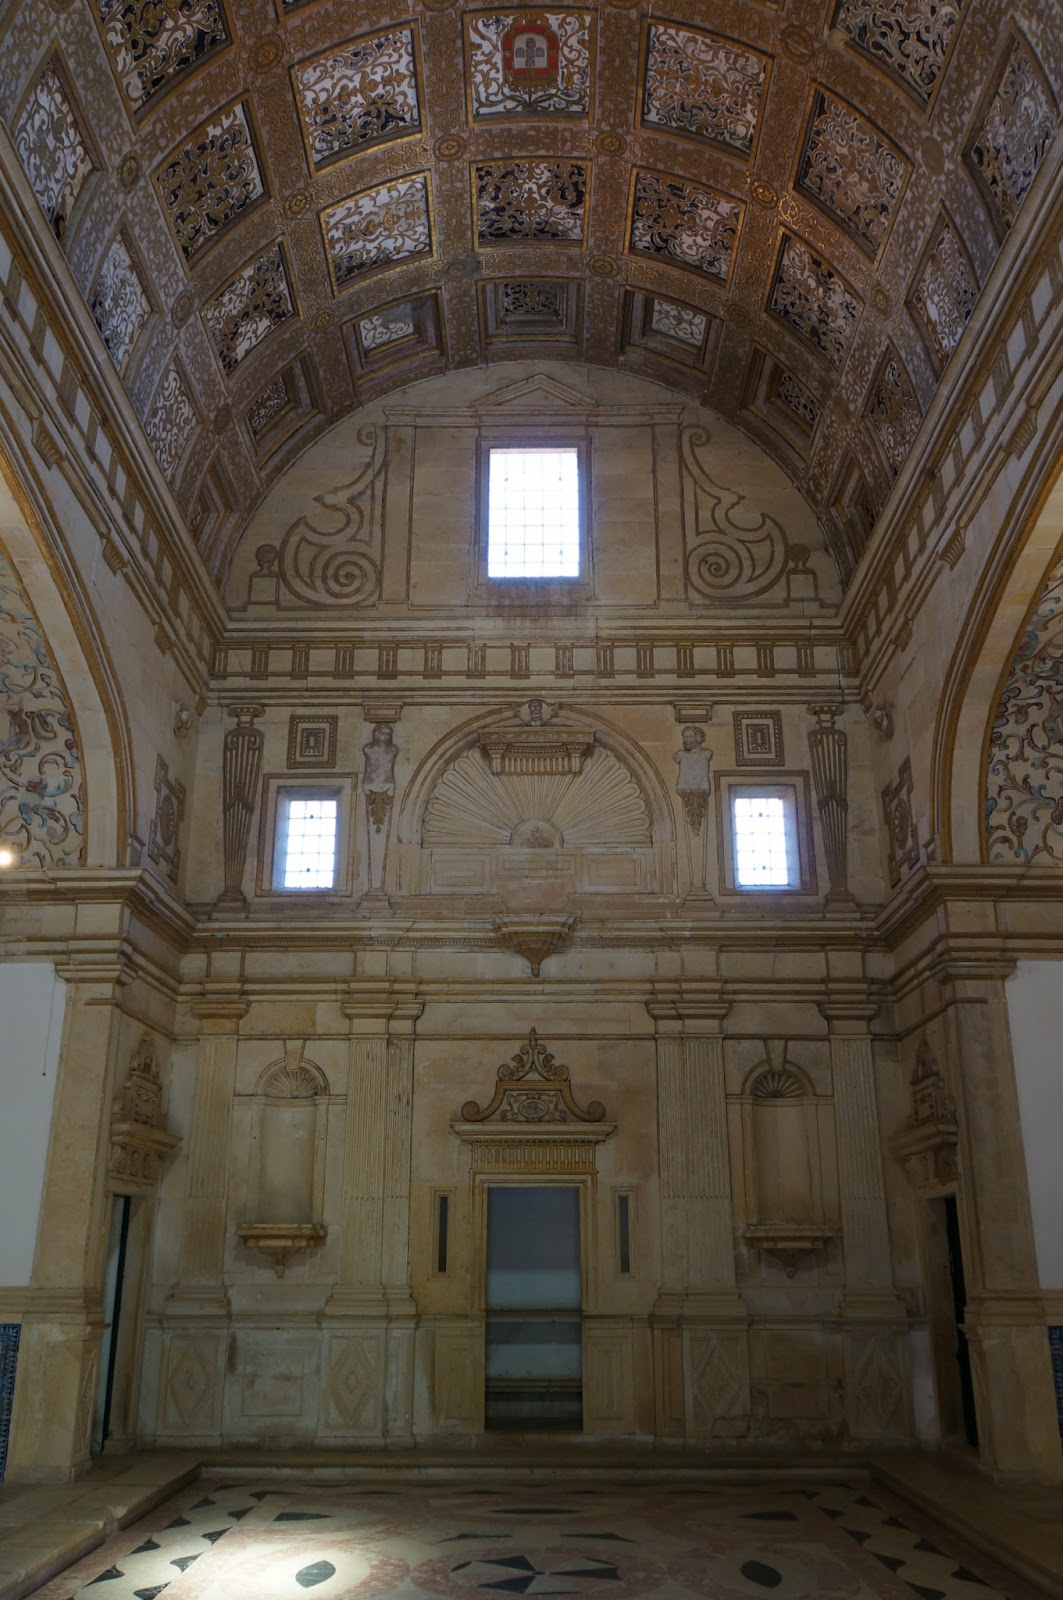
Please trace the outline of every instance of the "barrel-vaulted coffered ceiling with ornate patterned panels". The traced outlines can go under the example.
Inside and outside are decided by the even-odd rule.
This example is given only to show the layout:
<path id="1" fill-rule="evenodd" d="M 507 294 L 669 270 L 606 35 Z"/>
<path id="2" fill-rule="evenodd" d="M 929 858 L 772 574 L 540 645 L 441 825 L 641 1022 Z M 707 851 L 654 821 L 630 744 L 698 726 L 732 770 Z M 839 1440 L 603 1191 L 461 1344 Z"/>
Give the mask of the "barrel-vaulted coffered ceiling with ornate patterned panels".
<path id="1" fill-rule="evenodd" d="M 1057 128 L 1004 10 L 22 0 L 0 112 L 218 576 L 338 418 L 536 352 L 738 422 L 845 571 Z"/>

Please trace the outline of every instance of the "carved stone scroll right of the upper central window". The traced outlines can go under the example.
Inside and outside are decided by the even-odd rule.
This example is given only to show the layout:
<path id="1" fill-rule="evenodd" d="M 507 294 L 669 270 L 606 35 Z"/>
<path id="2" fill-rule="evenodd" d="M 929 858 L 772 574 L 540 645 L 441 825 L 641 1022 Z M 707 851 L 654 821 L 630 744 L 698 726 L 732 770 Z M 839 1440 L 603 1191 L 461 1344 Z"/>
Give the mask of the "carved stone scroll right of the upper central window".
<path id="1" fill-rule="evenodd" d="M 786 534 L 775 517 L 748 509 L 738 490 L 709 477 L 698 459 L 698 448 L 708 442 L 704 427 L 684 432 L 682 459 L 693 494 L 687 581 L 704 600 L 746 600 L 783 578 L 789 560 Z"/>

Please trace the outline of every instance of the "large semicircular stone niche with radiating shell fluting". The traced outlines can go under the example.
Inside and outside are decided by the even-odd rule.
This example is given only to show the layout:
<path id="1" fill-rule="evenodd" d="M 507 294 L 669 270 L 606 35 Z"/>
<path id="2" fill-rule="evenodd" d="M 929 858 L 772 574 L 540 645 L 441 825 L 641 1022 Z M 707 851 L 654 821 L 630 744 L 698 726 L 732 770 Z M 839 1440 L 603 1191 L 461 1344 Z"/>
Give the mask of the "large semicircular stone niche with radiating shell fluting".
<path id="1" fill-rule="evenodd" d="M 580 707 L 552 712 L 541 739 L 528 715 L 479 717 L 427 752 L 399 814 L 400 890 L 514 909 L 674 893 L 672 808 L 645 754 Z"/>

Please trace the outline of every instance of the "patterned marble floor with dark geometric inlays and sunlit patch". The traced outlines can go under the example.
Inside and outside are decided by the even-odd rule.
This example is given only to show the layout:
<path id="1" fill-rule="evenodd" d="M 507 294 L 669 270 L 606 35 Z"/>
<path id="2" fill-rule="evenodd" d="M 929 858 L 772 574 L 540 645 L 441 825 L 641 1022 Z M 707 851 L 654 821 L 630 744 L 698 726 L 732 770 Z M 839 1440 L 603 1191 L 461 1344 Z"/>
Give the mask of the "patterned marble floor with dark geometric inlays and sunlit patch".
<path id="1" fill-rule="evenodd" d="M 929 1536 L 929 1531 L 932 1536 Z M 37 1600 L 1037 1600 L 889 1494 L 200 1480 Z"/>

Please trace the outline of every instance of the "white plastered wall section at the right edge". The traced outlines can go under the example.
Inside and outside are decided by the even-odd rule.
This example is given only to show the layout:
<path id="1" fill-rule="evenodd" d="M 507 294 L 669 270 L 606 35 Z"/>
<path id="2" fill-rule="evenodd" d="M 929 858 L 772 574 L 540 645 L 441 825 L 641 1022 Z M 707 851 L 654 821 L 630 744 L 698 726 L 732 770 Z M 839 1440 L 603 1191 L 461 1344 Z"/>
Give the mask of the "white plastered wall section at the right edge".
<path id="1" fill-rule="evenodd" d="M 1020 962 L 1007 1011 L 1042 1290 L 1063 1288 L 1063 962 Z"/>

